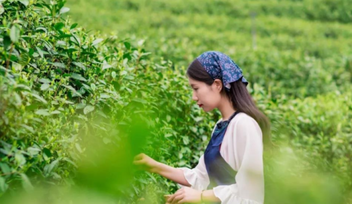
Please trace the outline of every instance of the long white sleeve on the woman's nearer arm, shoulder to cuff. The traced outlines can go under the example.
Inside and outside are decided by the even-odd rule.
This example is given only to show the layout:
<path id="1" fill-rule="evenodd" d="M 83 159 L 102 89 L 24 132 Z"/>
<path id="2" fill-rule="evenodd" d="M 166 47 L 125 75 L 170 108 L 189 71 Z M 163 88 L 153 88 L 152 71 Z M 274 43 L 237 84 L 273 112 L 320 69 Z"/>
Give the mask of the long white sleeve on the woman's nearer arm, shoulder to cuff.
<path id="1" fill-rule="evenodd" d="M 233 131 L 233 143 L 228 145 L 238 166 L 236 184 L 216 186 L 214 194 L 221 204 L 263 204 L 262 130 L 252 117 L 246 116 L 235 123 Z"/>

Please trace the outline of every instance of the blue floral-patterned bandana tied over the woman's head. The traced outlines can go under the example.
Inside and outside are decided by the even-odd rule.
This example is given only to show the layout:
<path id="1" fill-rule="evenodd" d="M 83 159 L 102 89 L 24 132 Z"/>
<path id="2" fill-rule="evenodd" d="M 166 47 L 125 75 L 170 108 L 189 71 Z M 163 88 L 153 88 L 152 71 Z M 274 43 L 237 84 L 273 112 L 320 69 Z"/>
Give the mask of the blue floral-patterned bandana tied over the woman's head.
<path id="1" fill-rule="evenodd" d="M 207 51 L 197 59 L 214 80 L 222 79 L 226 91 L 230 91 L 230 82 L 237 80 L 242 80 L 247 86 L 248 82 L 242 75 L 242 69 L 229 56 L 219 51 Z"/>

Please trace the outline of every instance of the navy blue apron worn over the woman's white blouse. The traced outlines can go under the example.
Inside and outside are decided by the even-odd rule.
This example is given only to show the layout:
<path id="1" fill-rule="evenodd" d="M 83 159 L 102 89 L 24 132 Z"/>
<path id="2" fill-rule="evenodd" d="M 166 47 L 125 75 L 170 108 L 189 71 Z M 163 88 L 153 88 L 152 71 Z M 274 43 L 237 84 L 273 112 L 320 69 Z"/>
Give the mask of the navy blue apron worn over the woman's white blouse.
<path id="1" fill-rule="evenodd" d="M 236 184 L 235 171 L 220 155 L 220 146 L 225 135 L 229 122 L 239 113 L 233 113 L 227 121 L 221 121 L 215 127 L 214 133 L 204 152 L 204 163 L 208 172 L 210 184 L 207 190 L 213 189 L 218 185 Z M 220 204 L 216 202 L 214 204 Z"/>

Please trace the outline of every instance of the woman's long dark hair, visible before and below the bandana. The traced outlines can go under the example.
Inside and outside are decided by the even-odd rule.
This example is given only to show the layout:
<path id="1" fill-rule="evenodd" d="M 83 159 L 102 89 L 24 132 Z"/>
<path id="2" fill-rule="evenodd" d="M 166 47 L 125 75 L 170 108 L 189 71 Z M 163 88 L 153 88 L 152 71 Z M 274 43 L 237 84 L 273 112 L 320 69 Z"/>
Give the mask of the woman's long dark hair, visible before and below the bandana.
<path id="1" fill-rule="evenodd" d="M 208 85 L 212 85 L 215 81 L 207 71 L 203 68 L 198 59 L 194 60 L 187 68 L 187 76 L 200 81 L 205 82 Z M 220 79 L 221 80 L 221 79 Z M 230 91 L 227 92 L 225 87 L 222 86 L 221 93 L 226 94 L 227 98 L 231 100 L 234 109 L 246 113 L 251 116 L 256 122 L 258 122 L 263 133 L 263 143 L 265 146 L 271 147 L 271 135 L 270 135 L 270 122 L 269 119 L 260 111 L 251 95 L 249 94 L 245 84 L 238 80 L 231 82 Z"/>

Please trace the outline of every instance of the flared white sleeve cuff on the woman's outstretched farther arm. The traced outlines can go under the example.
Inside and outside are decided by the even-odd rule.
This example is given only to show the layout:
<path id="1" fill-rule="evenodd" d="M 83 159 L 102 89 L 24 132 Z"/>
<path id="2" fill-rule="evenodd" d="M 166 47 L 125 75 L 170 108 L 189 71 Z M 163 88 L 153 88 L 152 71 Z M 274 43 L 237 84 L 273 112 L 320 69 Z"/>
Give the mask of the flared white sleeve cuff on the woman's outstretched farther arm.
<path id="1" fill-rule="evenodd" d="M 206 190 L 209 185 L 209 177 L 208 172 L 205 168 L 204 163 L 204 154 L 200 156 L 199 162 L 195 168 L 188 168 L 188 167 L 177 167 L 183 170 L 183 175 L 187 182 L 191 184 L 191 188 L 197 190 Z M 178 184 L 181 187 L 184 185 Z"/>

